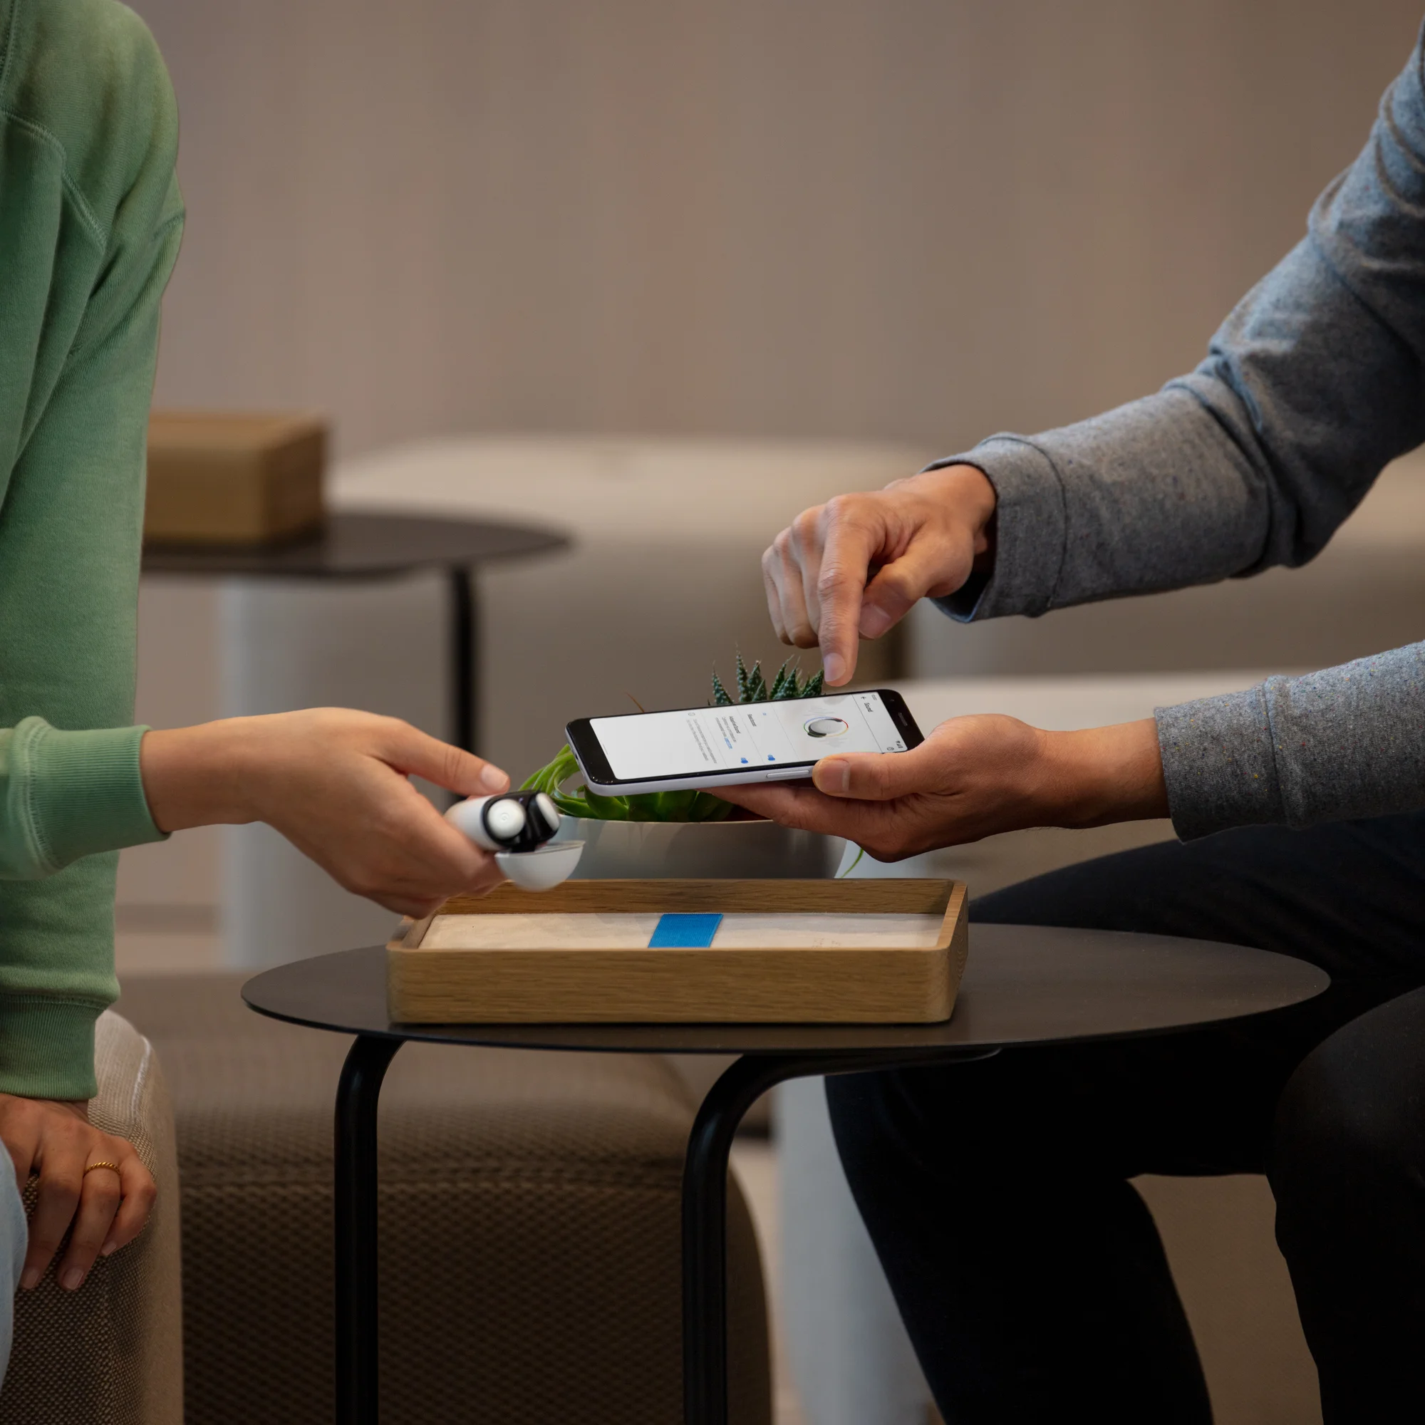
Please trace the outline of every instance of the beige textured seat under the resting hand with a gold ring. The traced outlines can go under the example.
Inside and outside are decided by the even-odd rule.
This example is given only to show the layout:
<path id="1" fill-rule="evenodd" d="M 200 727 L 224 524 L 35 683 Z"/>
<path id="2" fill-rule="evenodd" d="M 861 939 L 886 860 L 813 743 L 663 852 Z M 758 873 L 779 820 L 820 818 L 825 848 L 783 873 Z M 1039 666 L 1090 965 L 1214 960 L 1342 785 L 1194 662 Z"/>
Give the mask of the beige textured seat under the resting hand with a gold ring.
<path id="1" fill-rule="evenodd" d="M 90 1119 L 128 1139 L 158 1183 L 140 1237 L 101 1257 L 78 1291 L 54 1270 L 16 1298 L 0 1425 L 182 1425 L 178 1163 L 172 1113 L 147 1039 L 115 1013 L 95 1030 Z M 9 1170 L 9 1164 L 6 1164 Z M 33 1206 L 34 1186 L 26 1193 Z"/>

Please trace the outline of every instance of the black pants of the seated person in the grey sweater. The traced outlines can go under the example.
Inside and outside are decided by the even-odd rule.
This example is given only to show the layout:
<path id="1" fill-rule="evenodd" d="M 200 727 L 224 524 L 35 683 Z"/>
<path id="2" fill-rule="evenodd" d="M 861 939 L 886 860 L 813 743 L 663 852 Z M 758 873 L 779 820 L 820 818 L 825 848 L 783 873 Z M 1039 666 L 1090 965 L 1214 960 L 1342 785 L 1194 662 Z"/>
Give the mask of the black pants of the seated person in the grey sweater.
<path id="1" fill-rule="evenodd" d="M 1147 846 L 972 918 L 1255 945 L 1332 986 L 1221 1029 L 826 1082 L 949 1425 L 1211 1419 L 1139 1173 L 1265 1173 L 1327 1425 L 1425 1419 L 1425 814 Z"/>

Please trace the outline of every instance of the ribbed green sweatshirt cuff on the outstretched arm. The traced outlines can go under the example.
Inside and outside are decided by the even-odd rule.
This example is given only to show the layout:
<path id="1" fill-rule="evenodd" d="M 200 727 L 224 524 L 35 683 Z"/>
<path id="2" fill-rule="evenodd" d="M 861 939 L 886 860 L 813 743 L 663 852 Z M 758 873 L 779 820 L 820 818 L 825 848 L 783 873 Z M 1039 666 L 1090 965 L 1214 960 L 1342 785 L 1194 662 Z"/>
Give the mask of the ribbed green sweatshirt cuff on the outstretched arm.
<path id="1" fill-rule="evenodd" d="M 21 730 L 28 731 L 24 722 L 16 732 Z M 40 722 L 26 740 L 34 838 L 48 871 L 97 851 L 164 839 L 138 771 L 138 744 L 147 731 L 111 727 L 63 732 Z"/>

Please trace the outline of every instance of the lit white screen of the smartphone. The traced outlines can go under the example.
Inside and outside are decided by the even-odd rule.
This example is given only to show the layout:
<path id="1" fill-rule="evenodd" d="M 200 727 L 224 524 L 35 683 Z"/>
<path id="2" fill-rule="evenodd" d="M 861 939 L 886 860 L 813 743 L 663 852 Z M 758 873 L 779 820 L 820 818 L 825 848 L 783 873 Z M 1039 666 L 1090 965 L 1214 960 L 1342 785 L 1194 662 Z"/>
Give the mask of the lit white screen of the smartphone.
<path id="1" fill-rule="evenodd" d="M 596 717 L 590 728 L 621 782 L 905 751 L 879 693 Z"/>

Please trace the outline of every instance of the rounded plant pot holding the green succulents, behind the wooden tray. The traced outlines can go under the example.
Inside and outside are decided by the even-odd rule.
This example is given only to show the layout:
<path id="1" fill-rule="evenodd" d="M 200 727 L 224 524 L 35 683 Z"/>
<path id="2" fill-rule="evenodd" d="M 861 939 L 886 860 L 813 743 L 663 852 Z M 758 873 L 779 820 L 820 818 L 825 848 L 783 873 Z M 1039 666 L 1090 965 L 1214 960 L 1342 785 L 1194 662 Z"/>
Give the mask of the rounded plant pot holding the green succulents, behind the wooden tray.
<path id="1" fill-rule="evenodd" d="M 554 836 L 583 841 L 576 879 L 818 879 L 845 841 L 772 821 L 591 821 L 566 817 Z"/>

